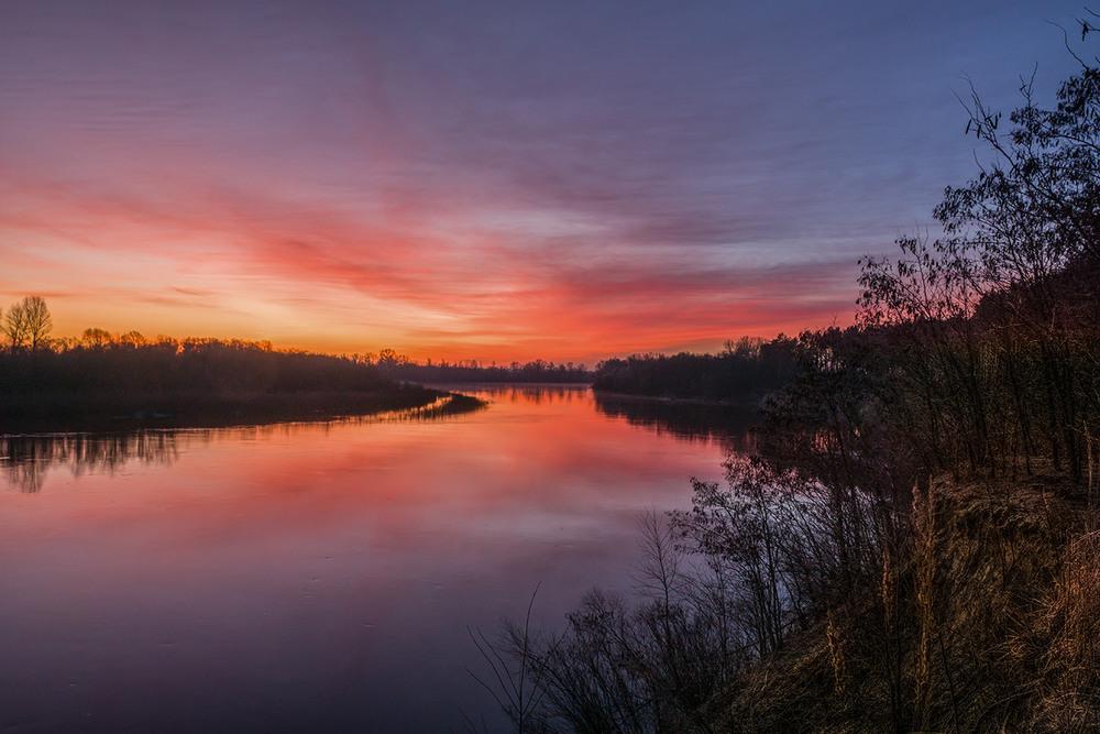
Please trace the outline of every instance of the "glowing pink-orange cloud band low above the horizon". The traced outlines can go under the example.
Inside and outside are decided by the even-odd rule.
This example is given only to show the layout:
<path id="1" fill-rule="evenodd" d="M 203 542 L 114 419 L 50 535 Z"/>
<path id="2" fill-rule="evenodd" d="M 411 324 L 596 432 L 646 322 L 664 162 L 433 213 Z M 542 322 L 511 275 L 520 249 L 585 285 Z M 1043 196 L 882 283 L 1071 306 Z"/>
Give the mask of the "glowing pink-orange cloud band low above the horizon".
<path id="1" fill-rule="evenodd" d="M 209 310 L 239 297 L 233 288 L 245 278 L 263 285 L 257 297 L 288 308 L 326 307 L 338 293 L 348 310 L 384 302 L 398 315 L 388 325 L 394 343 L 371 343 L 374 335 L 350 327 L 346 333 L 327 330 L 311 348 L 394 346 L 420 357 L 498 361 L 591 362 L 629 351 L 721 344 L 743 333 L 820 326 L 850 311 L 854 299 L 849 258 L 711 265 L 713 249 L 631 250 L 629 243 L 602 245 L 580 235 L 542 241 L 538 231 L 481 223 L 485 211 L 452 226 L 455 208 L 432 197 L 418 205 L 403 196 L 393 211 L 363 215 L 308 197 L 201 188 L 182 189 L 170 207 L 155 198 L 57 185 L 21 191 L 16 202 L 23 205 L 6 216 L 8 228 L 68 241 L 89 253 L 102 277 L 139 254 L 163 264 L 155 277 L 150 273 L 152 291 L 134 281 L 113 291 L 119 298 L 178 310 L 175 321 L 190 333 L 207 332 Z M 73 291 L 78 275 L 59 274 L 58 284 L 68 286 L 62 289 Z M 85 287 L 89 296 L 103 295 L 94 283 Z M 79 300 L 69 297 L 66 305 L 79 308 Z M 407 318 L 399 317 L 403 310 Z M 238 324 L 246 338 L 279 337 L 278 325 L 272 325 L 274 333 L 256 333 L 256 325 Z M 217 325 L 232 329 L 234 320 L 229 315 Z"/>

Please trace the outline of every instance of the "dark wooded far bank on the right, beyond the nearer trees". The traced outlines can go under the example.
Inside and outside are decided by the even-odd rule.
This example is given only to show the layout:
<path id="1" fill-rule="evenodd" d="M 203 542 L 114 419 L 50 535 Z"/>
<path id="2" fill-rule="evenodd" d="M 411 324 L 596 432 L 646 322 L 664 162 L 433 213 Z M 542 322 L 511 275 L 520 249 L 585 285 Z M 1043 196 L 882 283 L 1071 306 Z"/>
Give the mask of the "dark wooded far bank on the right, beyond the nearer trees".
<path id="1" fill-rule="evenodd" d="M 796 373 L 798 341 L 744 337 L 718 354 L 646 354 L 596 366 L 597 391 L 749 404 L 781 390 Z"/>

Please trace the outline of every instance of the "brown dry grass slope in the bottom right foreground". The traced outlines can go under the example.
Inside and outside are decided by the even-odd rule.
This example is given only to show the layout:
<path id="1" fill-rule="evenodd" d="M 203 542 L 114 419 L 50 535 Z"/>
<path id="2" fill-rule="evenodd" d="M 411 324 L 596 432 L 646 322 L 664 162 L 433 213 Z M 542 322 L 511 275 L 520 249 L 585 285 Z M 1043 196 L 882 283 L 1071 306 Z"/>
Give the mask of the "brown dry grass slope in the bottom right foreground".
<path id="1" fill-rule="evenodd" d="M 934 483 L 884 581 L 743 677 L 717 728 L 1100 730 L 1100 532 L 1064 490 Z"/>

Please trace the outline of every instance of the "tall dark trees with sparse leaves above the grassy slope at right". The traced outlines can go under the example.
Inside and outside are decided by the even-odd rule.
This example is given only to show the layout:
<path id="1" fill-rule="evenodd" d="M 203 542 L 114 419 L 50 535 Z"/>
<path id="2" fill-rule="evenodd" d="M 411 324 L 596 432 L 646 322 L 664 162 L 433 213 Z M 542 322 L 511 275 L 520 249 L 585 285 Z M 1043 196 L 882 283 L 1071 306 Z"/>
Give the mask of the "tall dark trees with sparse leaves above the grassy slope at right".
<path id="1" fill-rule="evenodd" d="M 932 465 L 1031 471 L 1043 454 L 1084 476 L 1100 415 L 1100 67 L 1078 61 L 1054 109 L 1023 84 L 1008 130 L 972 92 L 967 131 L 992 161 L 946 189 L 945 235 L 864 263 L 861 321 L 890 327 L 911 398 L 897 407 Z"/>

